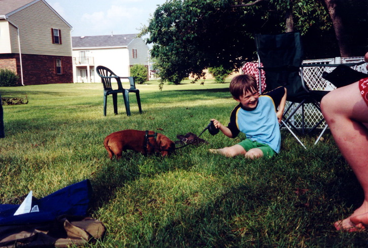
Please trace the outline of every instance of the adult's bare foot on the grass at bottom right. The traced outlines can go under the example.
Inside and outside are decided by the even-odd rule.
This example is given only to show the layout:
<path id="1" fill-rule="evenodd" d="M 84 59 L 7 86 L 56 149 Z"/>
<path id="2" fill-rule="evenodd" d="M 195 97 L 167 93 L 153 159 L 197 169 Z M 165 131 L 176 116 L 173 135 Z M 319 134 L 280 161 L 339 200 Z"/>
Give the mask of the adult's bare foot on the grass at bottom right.
<path id="1" fill-rule="evenodd" d="M 365 206 L 366 203 L 364 202 L 350 217 L 335 222 L 333 225 L 336 230 L 357 232 L 366 229 L 368 227 L 368 209 Z"/>

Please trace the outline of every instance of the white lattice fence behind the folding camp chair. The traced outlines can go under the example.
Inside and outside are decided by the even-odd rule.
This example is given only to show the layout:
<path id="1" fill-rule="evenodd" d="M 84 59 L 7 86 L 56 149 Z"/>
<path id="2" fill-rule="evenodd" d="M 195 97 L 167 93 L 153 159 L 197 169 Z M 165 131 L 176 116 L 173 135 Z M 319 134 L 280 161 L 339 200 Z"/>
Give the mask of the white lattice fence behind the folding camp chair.
<path id="1" fill-rule="evenodd" d="M 329 58 L 329 59 L 316 59 L 316 60 L 305 60 L 303 64 L 342 64 L 342 63 L 354 63 L 363 61 L 364 57 L 348 57 L 348 58 Z M 332 85 L 330 82 L 322 78 L 323 72 L 330 73 L 336 67 L 329 67 L 329 66 L 316 66 L 316 67 L 304 67 L 303 74 L 304 74 L 304 81 L 306 82 L 307 86 L 311 90 L 326 90 L 330 91 L 335 89 L 336 87 Z M 367 73 L 366 70 L 366 63 L 352 67 L 359 72 Z M 287 109 L 290 105 L 290 102 L 286 103 Z M 296 107 L 296 103 L 292 108 Z M 291 123 L 296 128 L 303 127 L 303 120 L 302 120 L 302 111 L 304 111 L 304 128 L 313 128 L 318 122 L 323 119 L 322 114 L 317 110 L 317 108 L 312 104 L 304 104 L 304 110 L 301 108 L 295 113 L 294 117 L 290 120 Z M 287 117 L 287 116 L 286 116 Z M 318 128 L 325 127 L 324 121 Z"/>

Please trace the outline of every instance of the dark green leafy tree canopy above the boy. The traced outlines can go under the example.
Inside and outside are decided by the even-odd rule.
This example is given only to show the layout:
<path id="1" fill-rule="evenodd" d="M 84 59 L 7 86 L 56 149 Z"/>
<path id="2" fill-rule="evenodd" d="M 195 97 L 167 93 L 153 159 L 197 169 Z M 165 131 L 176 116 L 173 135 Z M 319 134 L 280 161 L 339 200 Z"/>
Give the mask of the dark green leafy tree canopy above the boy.
<path id="1" fill-rule="evenodd" d="M 321 33 L 333 34 L 322 0 L 256 0 L 253 3 L 168 0 L 158 6 L 141 35 L 149 34 L 147 43 L 153 44 L 151 55 L 160 71 L 162 87 L 164 82 L 179 84 L 189 74 L 197 80 L 209 67 L 237 70 L 243 62 L 256 60 L 255 33 L 281 33 L 290 28 L 305 37 L 310 34 L 314 39 L 311 41 L 317 44 L 323 41 Z M 309 45 L 307 43 L 307 53 Z M 313 48 L 323 51 L 319 47 Z"/>

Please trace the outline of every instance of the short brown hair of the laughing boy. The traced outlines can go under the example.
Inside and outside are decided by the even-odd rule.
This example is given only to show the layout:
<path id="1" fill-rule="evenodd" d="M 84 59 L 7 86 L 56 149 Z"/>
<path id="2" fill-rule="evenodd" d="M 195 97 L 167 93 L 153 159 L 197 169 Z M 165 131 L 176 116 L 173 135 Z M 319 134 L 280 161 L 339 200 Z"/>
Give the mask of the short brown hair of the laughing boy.
<path id="1" fill-rule="evenodd" d="M 246 92 L 257 91 L 257 81 L 253 76 L 248 74 L 238 75 L 230 82 L 230 93 L 233 98 L 239 99 Z"/>

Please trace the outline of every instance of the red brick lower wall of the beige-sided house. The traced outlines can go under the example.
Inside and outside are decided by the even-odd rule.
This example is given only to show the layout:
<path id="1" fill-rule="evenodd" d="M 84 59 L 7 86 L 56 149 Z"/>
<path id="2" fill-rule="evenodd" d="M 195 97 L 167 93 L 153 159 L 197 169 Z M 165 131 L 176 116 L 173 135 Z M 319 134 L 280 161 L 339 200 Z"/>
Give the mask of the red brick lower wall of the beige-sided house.
<path id="1" fill-rule="evenodd" d="M 61 74 L 56 74 L 55 59 L 61 60 Z M 20 77 L 19 61 L 19 54 L 0 54 L 0 68 L 16 70 Z M 22 54 L 22 66 L 24 85 L 73 83 L 73 60 L 70 56 Z"/>

